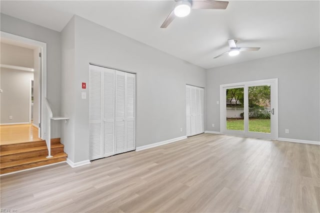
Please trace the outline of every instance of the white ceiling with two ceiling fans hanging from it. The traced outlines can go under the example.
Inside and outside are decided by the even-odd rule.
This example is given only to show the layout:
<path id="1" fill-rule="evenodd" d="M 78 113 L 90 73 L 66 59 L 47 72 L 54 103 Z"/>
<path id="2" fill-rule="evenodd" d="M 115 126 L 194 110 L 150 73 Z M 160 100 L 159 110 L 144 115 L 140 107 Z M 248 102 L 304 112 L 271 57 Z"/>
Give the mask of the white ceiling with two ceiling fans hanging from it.
<path id="1" fill-rule="evenodd" d="M 319 1 L 229 1 L 225 10 L 192 10 L 160 28 L 174 0 L 14 1 L 1 0 L 1 12 L 61 31 L 73 14 L 204 68 L 319 46 Z M 238 56 L 238 46 L 261 47 Z"/>

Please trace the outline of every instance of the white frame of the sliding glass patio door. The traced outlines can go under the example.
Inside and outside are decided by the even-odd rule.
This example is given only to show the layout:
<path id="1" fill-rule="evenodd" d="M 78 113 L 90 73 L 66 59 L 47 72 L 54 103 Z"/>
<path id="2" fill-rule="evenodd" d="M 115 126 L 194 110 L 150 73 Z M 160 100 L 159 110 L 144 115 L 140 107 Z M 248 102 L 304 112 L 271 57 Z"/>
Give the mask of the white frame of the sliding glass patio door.
<path id="1" fill-rule="evenodd" d="M 248 118 L 244 117 L 244 130 L 229 130 L 226 129 L 226 100 L 225 100 L 225 89 L 227 88 L 239 88 L 243 87 L 244 99 L 247 99 L 248 93 L 247 88 L 249 86 L 263 85 L 263 84 L 272 84 L 270 95 L 271 99 L 271 108 L 274 108 L 274 114 L 272 114 L 272 124 L 270 126 L 272 134 L 262 133 L 262 132 L 248 132 Z M 248 103 L 244 102 L 244 113 L 248 111 Z M 232 134 L 237 136 L 247 136 L 255 138 L 267 138 L 267 139 L 278 139 L 278 78 L 262 79 L 262 80 L 253 80 L 253 81 L 244 81 L 237 83 L 228 83 L 220 85 L 220 132 L 224 134 Z"/>

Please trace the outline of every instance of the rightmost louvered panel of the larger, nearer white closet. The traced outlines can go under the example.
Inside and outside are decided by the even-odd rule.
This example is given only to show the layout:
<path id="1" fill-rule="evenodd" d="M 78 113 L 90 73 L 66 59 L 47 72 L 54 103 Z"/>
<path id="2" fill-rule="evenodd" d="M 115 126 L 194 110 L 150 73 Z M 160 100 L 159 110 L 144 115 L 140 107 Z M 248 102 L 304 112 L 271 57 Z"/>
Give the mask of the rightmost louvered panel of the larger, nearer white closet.
<path id="1" fill-rule="evenodd" d="M 125 73 L 126 151 L 135 149 L 135 74 Z"/>

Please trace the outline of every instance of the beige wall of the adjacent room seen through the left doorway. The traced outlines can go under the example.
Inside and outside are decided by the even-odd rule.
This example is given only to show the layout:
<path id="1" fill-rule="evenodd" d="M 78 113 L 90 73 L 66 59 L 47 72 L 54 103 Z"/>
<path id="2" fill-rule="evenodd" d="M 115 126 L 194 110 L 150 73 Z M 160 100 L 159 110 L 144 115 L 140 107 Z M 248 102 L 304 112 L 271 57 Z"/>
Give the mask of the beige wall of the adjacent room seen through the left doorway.
<path id="1" fill-rule="evenodd" d="M 0 63 L 33 67 L 33 49 L 1 43 Z M 0 123 L 29 122 L 29 89 L 33 72 L 1 68 L 0 76 L 3 90 L 0 93 Z"/>

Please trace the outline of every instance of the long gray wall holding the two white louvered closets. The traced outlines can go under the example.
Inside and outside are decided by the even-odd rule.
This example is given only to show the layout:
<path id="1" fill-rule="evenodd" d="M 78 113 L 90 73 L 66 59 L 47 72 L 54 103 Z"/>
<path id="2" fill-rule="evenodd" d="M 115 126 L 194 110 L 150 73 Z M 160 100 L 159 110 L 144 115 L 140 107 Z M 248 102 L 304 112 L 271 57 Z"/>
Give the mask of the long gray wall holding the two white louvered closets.
<path id="1" fill-rule="evenodd" d="M 75 132 L 75 155 L 69 155 L 71 160 L 88 159 L 89 101 L 81 99 L 81 82 L 89 81 L 89 62 L 137 73 L 136 146 L 186 134 L 185 84 L 204 87 L 203 68 L 79 16 L 74 17 L 74 33 L 75 120 L 67 124 L 74 125 Z M 68 39 L 64 37 L 67 36 L 62 39 Z M 86 92 L 88 96 L 89 90 Z M 68 107 L 62 107 L 68 110 Z"/>

